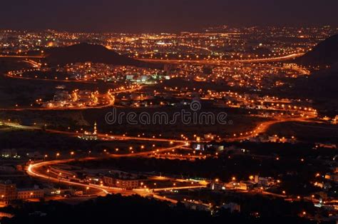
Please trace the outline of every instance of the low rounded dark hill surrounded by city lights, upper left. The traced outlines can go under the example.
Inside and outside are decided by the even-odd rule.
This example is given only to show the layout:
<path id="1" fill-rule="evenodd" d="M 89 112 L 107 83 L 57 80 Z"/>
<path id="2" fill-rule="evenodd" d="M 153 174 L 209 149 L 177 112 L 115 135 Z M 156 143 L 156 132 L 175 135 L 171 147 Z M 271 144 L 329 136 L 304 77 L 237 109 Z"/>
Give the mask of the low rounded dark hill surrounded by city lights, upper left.
<path id="1" fill-rule="evenodd" d="M 120 66 L 138 66 L 147 68 L 163 68 L 162 65 L 138 61 L 115 51 L 106 49 L 98 44 L 75 44 L 72 46 L 46 49 L 46 63 L 48 66 L 63 66 L 67 63 L 93 62 L 107 63 Z"/>

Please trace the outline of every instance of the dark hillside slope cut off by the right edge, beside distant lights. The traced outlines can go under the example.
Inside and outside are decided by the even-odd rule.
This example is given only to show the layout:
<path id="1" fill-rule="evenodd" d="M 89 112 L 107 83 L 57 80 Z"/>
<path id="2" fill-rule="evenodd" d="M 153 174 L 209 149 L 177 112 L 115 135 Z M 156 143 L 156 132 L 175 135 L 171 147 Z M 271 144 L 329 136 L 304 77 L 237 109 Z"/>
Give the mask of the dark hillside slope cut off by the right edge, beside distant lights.
<path id="1" fill-rule="evenodd" d="M 297 58 L 297 63 L 303 66 L 331 66 L 338 62 L 338 34 L 314 46 L 312 51 Z"/>

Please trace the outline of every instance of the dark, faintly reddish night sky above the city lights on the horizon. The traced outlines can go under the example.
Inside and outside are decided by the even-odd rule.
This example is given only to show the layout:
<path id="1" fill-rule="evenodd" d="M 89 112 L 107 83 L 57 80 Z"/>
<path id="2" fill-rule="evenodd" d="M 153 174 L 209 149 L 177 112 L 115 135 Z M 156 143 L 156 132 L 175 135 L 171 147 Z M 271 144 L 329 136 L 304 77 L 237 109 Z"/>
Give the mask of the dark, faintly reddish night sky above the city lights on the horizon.
<path id="1" fill-rule="evenodd" d="M 0 29 L 148 32 L 221 24 L 338 26 L 338 0 L 12 0 L 0 4 Z"/>

